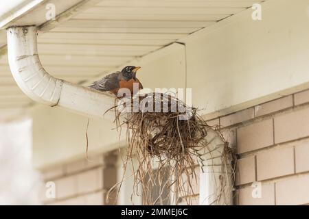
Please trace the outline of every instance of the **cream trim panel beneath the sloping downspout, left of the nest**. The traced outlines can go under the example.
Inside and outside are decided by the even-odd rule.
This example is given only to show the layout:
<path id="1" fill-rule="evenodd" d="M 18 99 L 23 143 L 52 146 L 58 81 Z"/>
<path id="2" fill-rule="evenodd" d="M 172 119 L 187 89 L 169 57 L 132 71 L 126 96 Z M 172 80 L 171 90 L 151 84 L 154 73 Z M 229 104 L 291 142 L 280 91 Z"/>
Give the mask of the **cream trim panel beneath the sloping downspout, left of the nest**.
<path id="1" fill-rule="evenodd" d="M 116 125 L 108 120 L 91 118 L 87 130 L 87 117 L 66 110 L 38 105 L 31 115 L 34 166 L 39 169 L 82 159 L 87 148 L 86 131 L 89 155 L 111 151 L 122 144 Z"/>

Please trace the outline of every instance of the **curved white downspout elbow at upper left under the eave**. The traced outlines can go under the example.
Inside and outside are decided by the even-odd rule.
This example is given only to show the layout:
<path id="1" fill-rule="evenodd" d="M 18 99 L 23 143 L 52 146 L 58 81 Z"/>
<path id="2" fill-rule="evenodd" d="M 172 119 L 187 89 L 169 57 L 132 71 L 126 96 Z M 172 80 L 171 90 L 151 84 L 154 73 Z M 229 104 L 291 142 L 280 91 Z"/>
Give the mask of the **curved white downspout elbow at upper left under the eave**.
<path id="1" fill-rule="evenodd" d="M 19 88 L 38 103 L 57 105 L 63 81 L 43 68 L 37 52 L 36 27 L 10 27 L 7 34 L 8 61 Z"/>

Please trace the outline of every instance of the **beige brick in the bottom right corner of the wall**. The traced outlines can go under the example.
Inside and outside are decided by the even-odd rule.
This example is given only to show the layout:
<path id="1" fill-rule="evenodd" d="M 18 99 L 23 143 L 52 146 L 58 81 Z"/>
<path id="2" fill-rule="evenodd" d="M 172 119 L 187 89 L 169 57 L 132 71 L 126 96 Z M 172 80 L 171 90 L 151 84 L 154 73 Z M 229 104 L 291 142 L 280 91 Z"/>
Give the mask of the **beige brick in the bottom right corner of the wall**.
<path id="1" fill-rule="evenodd" d="M 276 183 L 277 205 L 304 205 L 309 203 L 309 175 L 288 177 Z"/>

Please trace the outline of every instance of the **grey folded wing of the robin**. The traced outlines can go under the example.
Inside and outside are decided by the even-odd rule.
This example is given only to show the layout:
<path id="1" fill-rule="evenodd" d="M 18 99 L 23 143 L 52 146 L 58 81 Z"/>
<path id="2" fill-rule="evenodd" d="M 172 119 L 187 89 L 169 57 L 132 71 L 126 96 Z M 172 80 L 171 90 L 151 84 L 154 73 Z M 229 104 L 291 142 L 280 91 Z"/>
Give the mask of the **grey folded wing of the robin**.
<path id="1" fill-rule="evenodd" d="M 93 88 L 95 90 L 100 90 L 100 91 L 111 91 L 119 88 L 119 72 L 117 73 L 112 73 L 111 75 L 106 75 L 102 79 L 98 81 L 94 81 L 90 88 Z"/>

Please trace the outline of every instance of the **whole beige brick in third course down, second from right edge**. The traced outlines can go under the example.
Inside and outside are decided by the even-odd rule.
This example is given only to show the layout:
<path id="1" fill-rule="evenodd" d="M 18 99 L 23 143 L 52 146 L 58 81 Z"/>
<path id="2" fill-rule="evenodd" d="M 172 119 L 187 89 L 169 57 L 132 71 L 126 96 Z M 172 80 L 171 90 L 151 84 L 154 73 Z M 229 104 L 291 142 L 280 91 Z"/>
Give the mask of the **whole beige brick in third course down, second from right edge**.
<path id="1" fill-rule="evenodd" d="M 257 155 L 258 181 L 294 173 L 293 147 L 280 147 Z"/>

